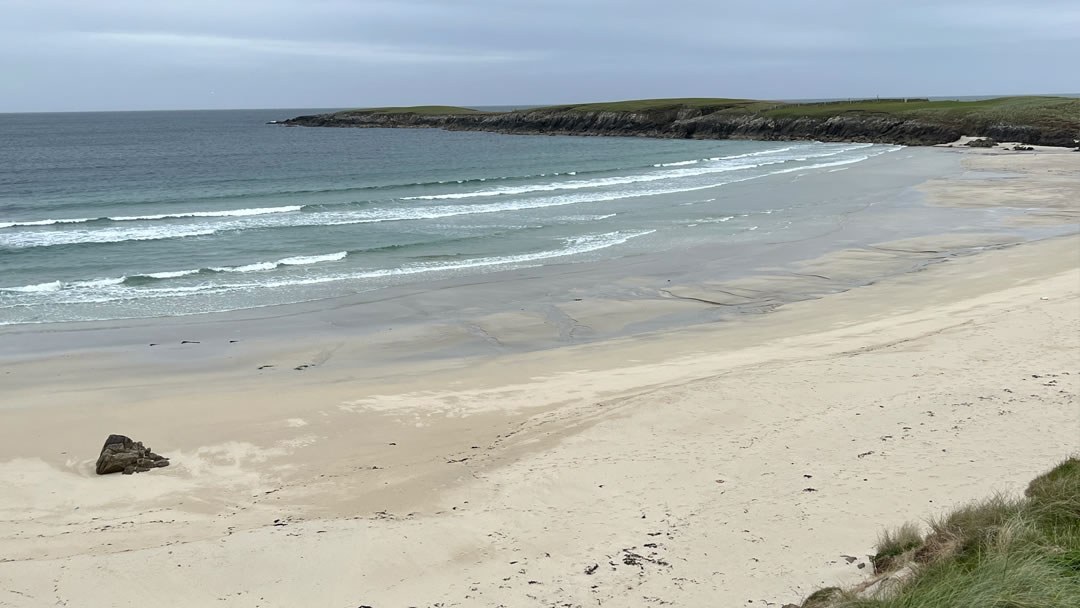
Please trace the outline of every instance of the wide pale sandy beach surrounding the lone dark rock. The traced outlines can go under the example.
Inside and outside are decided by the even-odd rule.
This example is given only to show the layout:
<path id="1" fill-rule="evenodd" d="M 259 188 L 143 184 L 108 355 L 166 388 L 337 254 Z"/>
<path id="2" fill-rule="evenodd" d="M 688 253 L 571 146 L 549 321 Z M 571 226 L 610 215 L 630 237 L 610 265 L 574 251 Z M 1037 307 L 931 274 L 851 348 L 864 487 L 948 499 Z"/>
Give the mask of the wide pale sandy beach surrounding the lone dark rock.
<path id="1" fill-rule="evenodd" d="M 883 527 L 1080 451 L 1080 153 L 933 152 L 959 168 L 914 192 L 1001 230 L 455 332 L 334 302 L 5 328 L 0 607 L 782 606 L 859 581 Z M 283 338 L 292 316 L 332 323 Z M 546 348 L 586 330 L 617 337 Z M 97 476 L 109 433 L 173 464 Z"/>

